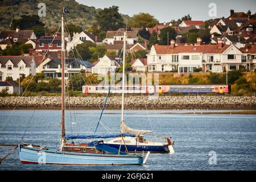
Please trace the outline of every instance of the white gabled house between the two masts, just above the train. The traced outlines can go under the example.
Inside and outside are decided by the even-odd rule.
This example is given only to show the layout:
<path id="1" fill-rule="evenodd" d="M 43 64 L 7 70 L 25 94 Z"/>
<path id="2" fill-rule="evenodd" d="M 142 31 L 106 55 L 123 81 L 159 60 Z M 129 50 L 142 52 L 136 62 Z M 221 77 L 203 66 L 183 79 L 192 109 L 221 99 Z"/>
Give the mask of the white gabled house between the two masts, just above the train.
<path id="1" fill-rule="evenodd" d="M 118 64 L 118 57 L 115 57 L 114 55 L 105 55 L 92 68 L 92 73 L 97 73 L 97 74 L 113 73 L 115 72 L 115 68 L 117 68 L 117 64 Z"/>

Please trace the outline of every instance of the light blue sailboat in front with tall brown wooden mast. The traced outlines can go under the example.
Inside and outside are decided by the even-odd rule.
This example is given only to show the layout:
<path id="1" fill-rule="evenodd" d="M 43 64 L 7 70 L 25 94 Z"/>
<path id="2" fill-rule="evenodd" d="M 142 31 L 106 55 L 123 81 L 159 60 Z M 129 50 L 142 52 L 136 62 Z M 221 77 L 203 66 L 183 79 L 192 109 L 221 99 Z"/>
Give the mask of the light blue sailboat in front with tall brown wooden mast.
<path id="1" fill-rule="evenodd" d="M 69 165 L 127 165 L 143 164 L 143 156 L 127 154 L 117 148 L 106 146 L 102 140 L 93 140 L 89 143 L 68 143 L 69 139 L 96 139 L 113 138 L 118 135 L 67 135 L 65 133 L 65 40 L 64 40 L 64 13 L 61 15 L 61 140 L 60 149 L 37 146 L 34 144 L 19 144 L 19 159 L 23 164 L 69 164 Z M 123 107 L 122 107 L 123 109 Z M 123 118 L 123 113 L 122 113 Z M 133 137 L 130 134 L 122 136 Z M 149 154 L 149 153 L 148 153 Z M 148 156 L 147 154 L 147 156 Z M 147 159 L 147 156 L 145 159 Z"/>

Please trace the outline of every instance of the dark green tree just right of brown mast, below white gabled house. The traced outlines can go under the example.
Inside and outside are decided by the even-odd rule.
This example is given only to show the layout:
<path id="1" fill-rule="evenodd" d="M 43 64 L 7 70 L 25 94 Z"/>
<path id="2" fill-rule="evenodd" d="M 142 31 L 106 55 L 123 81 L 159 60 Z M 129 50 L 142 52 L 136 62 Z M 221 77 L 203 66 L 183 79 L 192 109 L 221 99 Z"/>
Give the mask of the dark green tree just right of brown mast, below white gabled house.
<path id="1" fill-rule="evenodd" d="M 89 50 L 89 47 L 94 46 L 94 44 L 90 44 L 90 43 L 82 43 L 82 44 L 78 44 L 76 46 L 75 49 L 73 49 L 73 51 L 69 51 L 68 55 L 69 57 L 73 57 L 73 58 L 79 58 L 82 60 L 89 60 L 92 57 L 92 53 Z M 81 56 L 81 57 L 80 57 Z"/>

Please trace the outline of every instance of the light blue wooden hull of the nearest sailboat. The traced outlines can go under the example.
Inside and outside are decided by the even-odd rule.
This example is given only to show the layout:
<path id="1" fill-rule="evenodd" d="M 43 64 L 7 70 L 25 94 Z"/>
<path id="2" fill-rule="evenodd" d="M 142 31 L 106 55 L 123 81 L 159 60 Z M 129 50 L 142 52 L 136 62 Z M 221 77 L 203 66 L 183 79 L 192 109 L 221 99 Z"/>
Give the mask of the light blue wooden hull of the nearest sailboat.
<path id="1" fill-rule="evenodd" d="M 61 152 L 22 145 L 19 145 L 19 158 L 23 164 L 131 165 L 143 163 L 143 158 L 140 155 Z"/>

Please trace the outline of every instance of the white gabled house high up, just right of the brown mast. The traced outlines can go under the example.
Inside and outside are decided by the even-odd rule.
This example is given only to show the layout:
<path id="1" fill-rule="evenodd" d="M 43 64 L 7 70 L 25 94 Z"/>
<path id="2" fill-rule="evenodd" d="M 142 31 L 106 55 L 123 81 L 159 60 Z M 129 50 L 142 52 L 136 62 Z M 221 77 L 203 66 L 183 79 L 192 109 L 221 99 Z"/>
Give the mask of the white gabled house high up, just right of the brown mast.
<path id="1" fill-rule="evenodd" d="M 72 41 L 67 43 L 67 51 L 73 49 L 76 47 L 78 44 L 82 44 L 84 42 L 92 42 L 92 43 L 99 43 L 98 37 L 90 34 L 89 32 L 80 32 L 79 33 L 74 33 Z"/>

